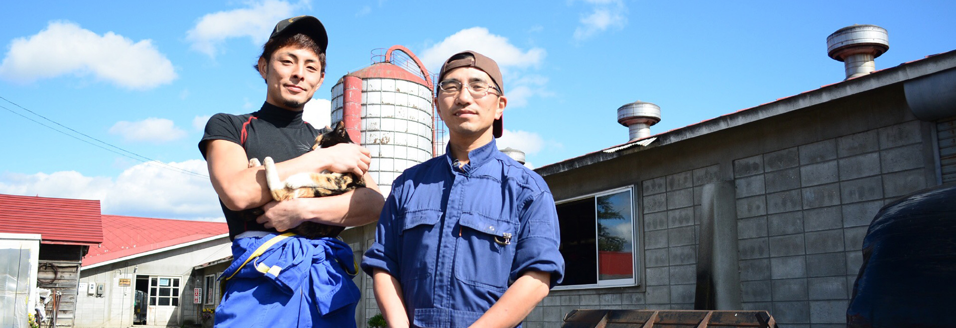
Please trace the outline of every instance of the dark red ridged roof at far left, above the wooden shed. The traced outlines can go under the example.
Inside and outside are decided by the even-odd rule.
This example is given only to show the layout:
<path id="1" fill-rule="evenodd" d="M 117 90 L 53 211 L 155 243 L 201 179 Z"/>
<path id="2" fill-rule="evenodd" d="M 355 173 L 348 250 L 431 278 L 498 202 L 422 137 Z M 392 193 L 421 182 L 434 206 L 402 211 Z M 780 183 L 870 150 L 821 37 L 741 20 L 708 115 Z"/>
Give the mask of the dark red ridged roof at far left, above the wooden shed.
<path id="1" fill-rule="evenodd" d="M 40 234 L 42 243 L 103 241 L 99 200 L 0 195 L 0 232 Z"/>

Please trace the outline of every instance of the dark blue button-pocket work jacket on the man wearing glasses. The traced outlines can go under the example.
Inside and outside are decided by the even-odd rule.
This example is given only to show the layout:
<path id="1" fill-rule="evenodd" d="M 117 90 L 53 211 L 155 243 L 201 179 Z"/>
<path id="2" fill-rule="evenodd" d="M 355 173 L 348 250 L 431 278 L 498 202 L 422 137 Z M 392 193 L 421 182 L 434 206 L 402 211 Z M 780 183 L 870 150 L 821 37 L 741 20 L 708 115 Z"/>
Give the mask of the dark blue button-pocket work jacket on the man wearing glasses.
<path id="1" fill-rule="evenodd" d="M 361 267 L 402 284 L 412 326 L 467 327 L 527 271 L 564 275 L 554 198 L 540 175 L 498 151 L 445 155 L 392 183 Z"/>

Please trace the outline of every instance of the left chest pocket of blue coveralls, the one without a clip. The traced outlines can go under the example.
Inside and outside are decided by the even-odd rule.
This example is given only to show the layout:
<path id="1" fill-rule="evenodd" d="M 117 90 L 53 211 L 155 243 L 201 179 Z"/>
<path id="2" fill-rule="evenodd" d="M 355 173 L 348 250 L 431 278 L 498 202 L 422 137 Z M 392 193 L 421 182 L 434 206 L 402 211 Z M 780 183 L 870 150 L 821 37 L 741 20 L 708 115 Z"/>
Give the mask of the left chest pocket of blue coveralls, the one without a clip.
<path id="1" fill-rule="evenodd" d="M 436 227 L 442 213 L 416 211 L 405 214 L 402 224 L 402 281 L 431 276 L 438 253 L 441 228 Z"/>

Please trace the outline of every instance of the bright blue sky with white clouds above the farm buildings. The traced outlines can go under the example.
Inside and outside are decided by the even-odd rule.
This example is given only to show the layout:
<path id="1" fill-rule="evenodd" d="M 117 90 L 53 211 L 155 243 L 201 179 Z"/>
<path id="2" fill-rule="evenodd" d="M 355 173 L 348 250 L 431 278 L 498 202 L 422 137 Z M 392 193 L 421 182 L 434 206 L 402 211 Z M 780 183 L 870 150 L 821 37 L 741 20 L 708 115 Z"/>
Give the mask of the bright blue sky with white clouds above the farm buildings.
<path id="1" fill-rule="evenodd" d="M 839 82 L 826 37 L 852 24 L 889 31 L 878 69 L 956 50 L 953 12 L 952 1 L 11 2 L 0 22 L 0 194 L 220 217 L 205 178 L 163 167 L 206 174 L 196 147 L 206 118 L 258 109 L 265 85 L 251 65 L 275 22 L 299 14 L 330 38 L 310 113 L 374 49 L 403 45 L 431 71 L 480 51 L 501 64 L 511 100 L 499 146 L 538 167 L 626 142 L 616 111 L 636 100 L 661 107 L 651 132 L 662 133 Z M 23 116 L 112 149 L 24 109 L 158 162 L 57 133 Z"/>

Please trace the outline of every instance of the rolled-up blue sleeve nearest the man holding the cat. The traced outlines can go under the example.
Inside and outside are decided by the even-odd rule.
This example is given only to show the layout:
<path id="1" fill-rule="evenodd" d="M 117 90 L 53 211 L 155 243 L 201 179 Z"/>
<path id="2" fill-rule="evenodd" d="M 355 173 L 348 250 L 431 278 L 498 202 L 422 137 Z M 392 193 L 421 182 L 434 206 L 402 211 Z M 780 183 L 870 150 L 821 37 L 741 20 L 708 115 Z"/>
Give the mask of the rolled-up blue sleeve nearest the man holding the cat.
<path id="1" fill-rule="evenodd" d="M 394 186 L 400 185 L 400 182 L 396 180 Z M 373 271 L 378 268 L 392 277 L 402 278 L 399 277 L 401 272 L 399 263 L 402 260 L 399 255 L 402 254 L 402 250 L 399 240 L 401 224 L 398 223 L 401 215 L 396 200 L 396 195 L 400 194 L 400 188 L 393 188 L 388 195 L 385 206 L 381 209 L 379 224 L 375 229 L 375 243 L 365 252 L 365 256 L 362 256 L 361 269 L 369 276 L 372 276 Z"/>

